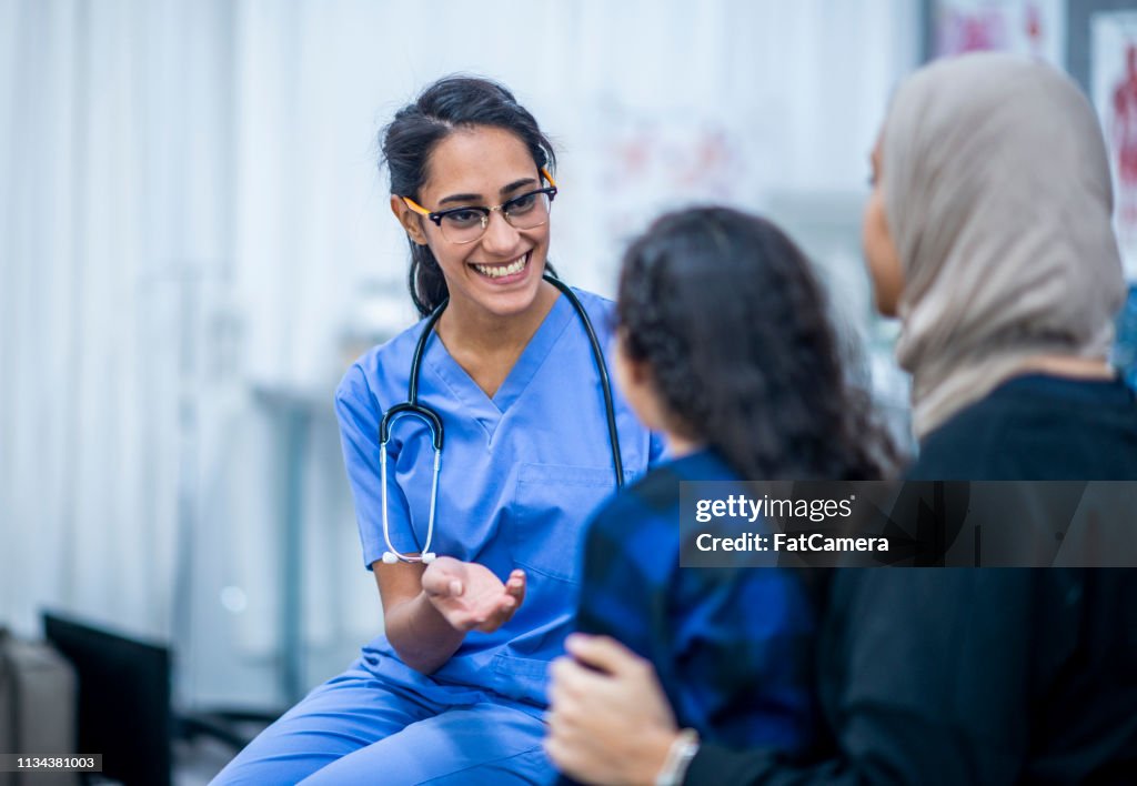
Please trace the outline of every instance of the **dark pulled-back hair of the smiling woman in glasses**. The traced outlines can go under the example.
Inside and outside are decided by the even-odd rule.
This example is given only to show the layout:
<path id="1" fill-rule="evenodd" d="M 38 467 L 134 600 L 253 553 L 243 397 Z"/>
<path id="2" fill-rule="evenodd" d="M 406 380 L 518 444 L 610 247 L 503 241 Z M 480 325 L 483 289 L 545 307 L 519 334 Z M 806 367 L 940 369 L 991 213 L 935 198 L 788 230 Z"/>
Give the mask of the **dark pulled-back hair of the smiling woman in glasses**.
<path id="1" fill-rule="evenodd" d="M 513 132 L 529 148 L 537 168 L 556 164 L 553 144 L 537 121 L 507 88 L 474 76 L 447 76 L 400 109 L 380 133 L 381 166 L 391 175 L 391 193 L 418 201 L 434 148 L 456 129 L 492 126 Z M 438 260 L 426 246 L 410 241 L 407 287 L 423 316 L 449 295 Z"/>

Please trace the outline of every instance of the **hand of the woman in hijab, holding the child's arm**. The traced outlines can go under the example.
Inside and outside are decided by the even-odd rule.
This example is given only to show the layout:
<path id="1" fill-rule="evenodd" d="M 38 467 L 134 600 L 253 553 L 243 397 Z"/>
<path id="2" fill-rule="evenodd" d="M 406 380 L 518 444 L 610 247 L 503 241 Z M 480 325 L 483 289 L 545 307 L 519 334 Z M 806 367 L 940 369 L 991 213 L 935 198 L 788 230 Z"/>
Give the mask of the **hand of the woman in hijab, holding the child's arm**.
<path id="1" fill-rule="evenodd" d="M 607 636 L 573 634 L 553 662 L 545 751 L 589 784 L 654 784 L 679 737 L 652 664 Z"/>

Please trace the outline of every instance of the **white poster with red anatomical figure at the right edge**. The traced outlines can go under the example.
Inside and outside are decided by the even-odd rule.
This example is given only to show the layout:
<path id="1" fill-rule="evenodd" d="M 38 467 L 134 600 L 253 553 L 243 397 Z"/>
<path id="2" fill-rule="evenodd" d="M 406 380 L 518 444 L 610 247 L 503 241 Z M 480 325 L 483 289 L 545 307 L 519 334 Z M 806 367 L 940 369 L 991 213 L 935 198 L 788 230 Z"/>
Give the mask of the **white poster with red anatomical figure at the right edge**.
<path id="1" fill-rule="evenodd" d="M 1090 17 L 1090 89 L 1113 174 L 1113 217 L 1126 275 L 1137 280 L 1137 11 Z"/>

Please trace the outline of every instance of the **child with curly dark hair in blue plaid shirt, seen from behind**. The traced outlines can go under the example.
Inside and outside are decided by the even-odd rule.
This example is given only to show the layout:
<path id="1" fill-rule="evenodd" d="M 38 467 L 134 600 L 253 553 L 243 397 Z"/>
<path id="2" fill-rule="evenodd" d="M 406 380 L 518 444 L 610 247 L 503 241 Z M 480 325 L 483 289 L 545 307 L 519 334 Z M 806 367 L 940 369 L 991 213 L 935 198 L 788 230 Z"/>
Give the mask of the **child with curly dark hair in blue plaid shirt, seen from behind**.
<path id="1" fill-rule="evenodd" d="M 766 221 L 725 208 L 659 218 L 624 257 L 616 314 L 621 388 L 673 460 L 589 526 L 579 629 L 647 659 L 678 722 L 704 739 L 805 755 L 818 573 L 680 568 L 680 483 L 877 479 L 883 435 L 846 386 L 807 260 Z M 556 718 L 596 675 L 554 669 Z M 653 743 L 663 756 L 671 739 Z M 556 755 L 559 734 L 548 745 Z"/>

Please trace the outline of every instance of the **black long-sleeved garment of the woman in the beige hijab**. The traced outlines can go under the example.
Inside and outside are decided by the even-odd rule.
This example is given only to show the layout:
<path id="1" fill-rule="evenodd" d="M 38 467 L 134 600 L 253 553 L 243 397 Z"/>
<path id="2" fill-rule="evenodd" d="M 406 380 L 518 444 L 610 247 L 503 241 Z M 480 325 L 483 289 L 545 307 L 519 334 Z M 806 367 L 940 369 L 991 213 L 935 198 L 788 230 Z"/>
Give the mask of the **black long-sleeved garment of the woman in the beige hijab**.
<path id="1" fill-rule="evenodd" d="M 910 477 L 1137 480 L 1137 402 L 1019 378 Z M 1137 570 L 838 571 L 818 672 L 828 759 L 706 745 L 684 783 L 1137 784 Z"/>

